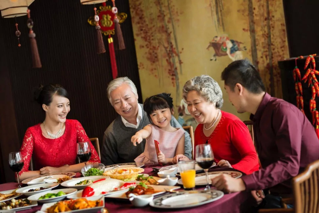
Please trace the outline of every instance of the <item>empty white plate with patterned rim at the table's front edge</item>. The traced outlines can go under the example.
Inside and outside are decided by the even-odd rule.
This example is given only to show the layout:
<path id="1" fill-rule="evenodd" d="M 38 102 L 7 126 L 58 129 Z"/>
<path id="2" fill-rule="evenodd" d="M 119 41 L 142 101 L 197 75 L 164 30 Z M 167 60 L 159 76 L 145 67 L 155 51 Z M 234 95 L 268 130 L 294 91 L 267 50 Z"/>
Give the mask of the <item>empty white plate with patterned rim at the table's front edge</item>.
<path id="1" fill-rule="evenodd" d="M 223 196 L 224 193 L 218 190 L 174 193 L 155 198 L 150 202 L 150 206 L 162 209 L 190 208 L 216 201 Z"/>

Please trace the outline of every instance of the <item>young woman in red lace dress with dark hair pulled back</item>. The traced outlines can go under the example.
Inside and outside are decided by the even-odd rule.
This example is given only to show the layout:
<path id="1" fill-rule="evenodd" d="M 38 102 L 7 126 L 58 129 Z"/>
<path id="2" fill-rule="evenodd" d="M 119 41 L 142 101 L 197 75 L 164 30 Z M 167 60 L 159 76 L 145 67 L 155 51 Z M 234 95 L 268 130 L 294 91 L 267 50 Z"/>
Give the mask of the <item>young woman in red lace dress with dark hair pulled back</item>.
<path id="1" fill-rule="evenodd" d="M 43 123 L 26 130 L 21 154 L 24 167 L 20 179 L 27 179 L 40 174 L 64 171 L 80 171 L 85 164 L 75 164 L 77 142 L 90 141 L 82 125 L 77 120 L 66 119 L 70 111 L 67 91 L 60 85 L 46 85 L 35 92 L 36 101 L 45 111 Z M 100 163 L 100 158 L 90 142 L 90 163 Z M 34 169 L 29 171 L 30 159 Z"/>

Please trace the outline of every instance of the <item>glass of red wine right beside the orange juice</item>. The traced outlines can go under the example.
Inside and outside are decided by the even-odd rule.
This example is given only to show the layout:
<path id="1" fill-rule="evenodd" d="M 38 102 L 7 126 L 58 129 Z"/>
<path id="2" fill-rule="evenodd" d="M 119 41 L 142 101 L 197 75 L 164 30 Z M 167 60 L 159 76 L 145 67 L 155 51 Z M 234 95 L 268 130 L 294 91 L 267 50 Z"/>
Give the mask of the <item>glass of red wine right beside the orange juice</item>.
<path id="1" fill-rule="evenodd" d="M 208 169 L 214 163 L 214 154 L 211 150 L 210 144 L 199 144 L 196 146 L 196 162 L 197 164 L 204 169 L 206 174 L 206 188 L 204 190 L 210 190 L 208 181 Z"/>

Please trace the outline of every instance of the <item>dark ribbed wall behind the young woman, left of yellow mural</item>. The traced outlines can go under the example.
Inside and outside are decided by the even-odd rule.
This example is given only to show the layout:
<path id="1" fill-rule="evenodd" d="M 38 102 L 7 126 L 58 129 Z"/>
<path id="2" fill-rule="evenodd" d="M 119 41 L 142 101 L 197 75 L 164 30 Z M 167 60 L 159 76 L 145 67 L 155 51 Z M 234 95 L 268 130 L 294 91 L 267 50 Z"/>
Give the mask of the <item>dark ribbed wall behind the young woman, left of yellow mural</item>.
<path id="1" fill-rule="evenodd" d="M 110 5 L 111 1 L 107 4 Z M 128 14 L 121 24 L 126 49 L 115 50 L 118 76 L 130 77 L 141 97 L 129 3 L 117 0 L 116 5 L 119 12 Z M 16 150 L 20 148 L 26 129 L 44 119 L 43 110 L 33 101 L 34 88 L 40 83 L 59 83 L 67 89 L 71 103 L 67 118 L 79 120 L 89 137 L 98 137 L 101 141 L 105 129 L 116 117 L 106 93 L 108 82 L 112 80 L 107 37 L 104 36 L 107 52 L 96 54 L 96 31 L 87 23 L 88 17 L 94 15 L 93 7 L 81 5 L 79 0 L 35 0 L 30 5 L 41 69 L 31 68 L 27 17 L 17 17 L 21 31 L 20 48 L 14 34 L 15 20 L 0 19 L 0 42 L 4 43 L 0 56 L 5 61 L 1 72 L 6 68 L 10 74 L 15 113 L 12 119 L 19 144 L 14 147 Z M 9 150 L 4 141 L 0 141 L 0 145 L 1 149 Z M 2 154 L 6 160 L 7 153 Z"/>

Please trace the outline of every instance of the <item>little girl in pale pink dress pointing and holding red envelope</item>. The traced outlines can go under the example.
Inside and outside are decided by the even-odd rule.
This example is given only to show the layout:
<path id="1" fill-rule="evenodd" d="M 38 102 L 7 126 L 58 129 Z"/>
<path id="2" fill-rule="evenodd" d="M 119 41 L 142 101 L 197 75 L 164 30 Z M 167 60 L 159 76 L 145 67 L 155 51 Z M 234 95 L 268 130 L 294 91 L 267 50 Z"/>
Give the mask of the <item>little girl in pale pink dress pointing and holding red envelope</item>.
<path id="1" fill-rule="evenodd" d="M 184 154 L 185 135 L 183 128 L 174 128 L 170 121 L 174 114 L 173 99 L 170 94 L 161 93 L 146 98 L 144 111 L 151 124 L 132 136 L 134 146 L 146 138 L 144 152 L 134 159 L 144 164 L 172 164 L 173 157 Z M 154 140 L 159 142 L 159 155 L 156 155 Z"/>

